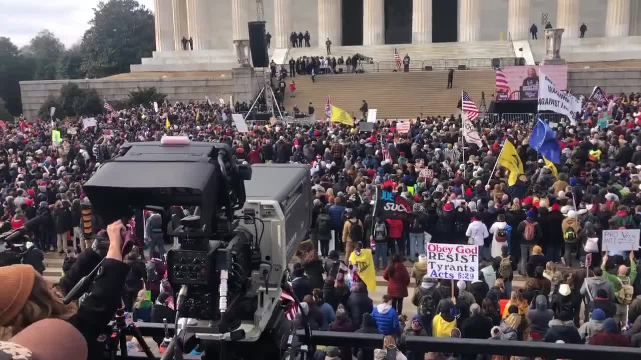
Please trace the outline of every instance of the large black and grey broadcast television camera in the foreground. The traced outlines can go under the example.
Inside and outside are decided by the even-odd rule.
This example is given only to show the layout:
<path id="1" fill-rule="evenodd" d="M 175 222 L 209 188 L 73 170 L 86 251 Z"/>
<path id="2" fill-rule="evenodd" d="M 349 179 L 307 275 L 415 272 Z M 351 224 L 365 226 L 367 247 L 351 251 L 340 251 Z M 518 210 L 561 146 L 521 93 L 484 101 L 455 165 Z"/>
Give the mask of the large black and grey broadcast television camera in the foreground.
<path id="1" fill-rule="evenodd" d="M 152 209 L 162 215 L 165 231 L 172 206 L 195 209 L 165 232 L 178 238 L 167 256 L 178 294 L 176 323 L 178 317 L 196 320 L 172 341 L 176 352 L 200 345 L 206 359 L 297 355 L 296 328 L 284 316 L 280 295 L 289 287 L 287 264 L 310 224 L 312 199 L 306 165 L 274 170 L 278 166 L 257 167 L 281 177 L 251 181 L 248 200 L 252 168 L 228 145 L 165 137 L 125 143 L 85 184 L 106 223 Z"/>

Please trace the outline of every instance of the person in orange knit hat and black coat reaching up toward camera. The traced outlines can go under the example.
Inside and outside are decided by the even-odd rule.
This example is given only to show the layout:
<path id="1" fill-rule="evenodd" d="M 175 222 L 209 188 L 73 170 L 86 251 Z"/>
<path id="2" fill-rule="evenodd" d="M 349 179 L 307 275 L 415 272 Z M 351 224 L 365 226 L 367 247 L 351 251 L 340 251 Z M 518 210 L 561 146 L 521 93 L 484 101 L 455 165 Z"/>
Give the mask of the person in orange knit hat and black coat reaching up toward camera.
<path id="1" fill-rule="evenodd" d="M 124 225 L 120 220 L 108 225 L 108 249 L 101 248 L 96 241 L 91 249 L 79 254 L 76 264 L 55 286 L 31 265 L 1 267 L 0 340 L 8 340 L 38 320 L 60 318 L 83 334 L 89 347 L 89 358 L 97 358 L 100 349 L 96 339 L 121 306 L 123 282 L 129 271 L 128 265 L 122 262 L 122 229 Z M 103 258 L 91 292 L 81 305 L 77 302 L 63 304 L 64 294 Z"/>

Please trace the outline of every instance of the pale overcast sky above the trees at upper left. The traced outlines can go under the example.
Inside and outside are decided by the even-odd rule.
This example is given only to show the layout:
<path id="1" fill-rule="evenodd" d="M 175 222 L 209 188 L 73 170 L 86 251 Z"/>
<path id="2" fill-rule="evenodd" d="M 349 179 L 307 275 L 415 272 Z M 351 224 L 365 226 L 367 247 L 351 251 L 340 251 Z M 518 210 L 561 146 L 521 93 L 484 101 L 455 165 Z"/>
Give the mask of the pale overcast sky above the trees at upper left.
<path id="1" fill-rule="evenodd" d="M 137 0 L 153 10 L 153 0 Z M 167 0 L 170 1 L 170 0 Z M 89 20 L 94 17 L 93 8 L 99 0 L 3 0 L 3 20 L 0 21 L 0 37 L 11 38 L 18 47 L 42 29 L 51 30 L 69 47 L 79 42 Z"/>

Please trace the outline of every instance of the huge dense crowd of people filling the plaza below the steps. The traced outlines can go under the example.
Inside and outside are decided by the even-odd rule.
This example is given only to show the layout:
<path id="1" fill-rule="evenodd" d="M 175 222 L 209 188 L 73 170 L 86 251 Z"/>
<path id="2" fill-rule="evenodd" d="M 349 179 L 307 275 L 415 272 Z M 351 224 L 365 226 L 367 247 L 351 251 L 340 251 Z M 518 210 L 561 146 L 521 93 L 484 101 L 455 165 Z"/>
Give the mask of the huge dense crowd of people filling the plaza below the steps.
<path id="1" fill-rule="evenodd" d="M 355 127 L 250 124 L 248 133 L 238 133 L 231 112 L 242 104 L 165 102 L 157 112 L 149 104 L 97 115 L 97 125 L 88 128 L 82 119 L 7 122 L 1 127 L 0 231 L 21 227 L 37 215 L 48 220 L 33 233 L 27 245 L 31 256 L 23 259 L 35 270 L 0 268 L 3 279 L 26 274 L 36 279 L 21 290 L 19 302 L 5 301 L 7 291 L 0 296 L 0 306 L 10 304 L 11 309 L 0 309 L 0 340 L 42 317 L 71 316 L 83 329 L 101 320 L 78 318 L 73 315 L 77 308 L 62 306 L 60 293 L 69 291 L 78 273 L 71 266 L 62 287 L 47 287 L 37 274 L 44 270 L 42 254 L 68 252 L 66 258 L 73 262 L 72 250 L 91 247 L 79 231 L 81 203 L 88 201 L 83 184 L 122 143 L 185 135 L 193 141 L 227 143 L 248 163 L 310 164 L 313 223 L 310 240 L 299 249 L 292 285 L 313 329 L 383 334 L 385 347 L 398 349 L 397 359 L 451 355 L 407 352 L 407 336 L 639 347 L 637 251 L 601 251 L 604 230 L 641 225 L 639 97 L 619 97 L 606 127 L 597 126 L 596 105 L 589 102 L 577 124 L 558 124 L 562 151 L 554 168 L 528 145 L 533 124 L 479 126 L 483 146 L 466 143 L 463 151 L 461 121 L 453 115 L 417 118 L 408 133 L 384 121 L 374 131 L 358 131 L 356 119 Z M 60 143 L 52 143 L 52 125 L 61 133 Z M 512 186 L 505 169 L 494 166 L 506 140 L 517 145 L 524 168 L 524 176 Z M 419 176 L 421 168 L 431 170 L 430 177 Z M 404 219 L 374 211 L 377 188 L 410 205 Z M 136 320 L 172 318 L 174 311 L 165 249 L 154 238 L 162 225 L 153 217 L 140 249 L 146 258 L 134 252 L 124 259 L 130 266 L 121 266 L 117 256 L 110 263 L 113 276 L 126 278 L 124 288 L 114 290 L 103 279 L 104 288 L 95 295 L 122 293 Z M 122 224 L 110 226 L 111 234 Z M 477 245 L 479 280 L 429 277 L 426 234 L 433 243 Z M 91 265 L 83 254 L 87 252 L 76 263 Z M 406 259 L 413 263 L 411 271 Z M 586 261 L 591 263 L 587 269 Z M 387 281 L 387 293 L 372 299 L 377 270 Z M 517 274 L 525 279 L 518 288 L 513 286 Z M 29 306 L 42 291 L 55 304 L 51 311 Z M 415 307 L 403 306 L 408 297 Z M 389 354 L 358 345 L 319 351 L 345 360 Z"/>

